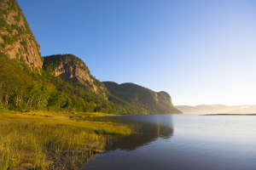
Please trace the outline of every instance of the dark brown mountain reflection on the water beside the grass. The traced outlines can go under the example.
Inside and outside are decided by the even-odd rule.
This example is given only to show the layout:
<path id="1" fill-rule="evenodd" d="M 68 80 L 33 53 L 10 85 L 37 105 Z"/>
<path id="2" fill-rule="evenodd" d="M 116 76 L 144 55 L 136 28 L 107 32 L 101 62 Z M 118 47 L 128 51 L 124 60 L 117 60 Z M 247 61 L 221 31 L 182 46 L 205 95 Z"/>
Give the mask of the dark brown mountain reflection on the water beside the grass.
<path id="1" fill-rule="evenodd" d="M 129 123 L 134 133 L 108 139 L 107 150 L 136 150 L 155 139 L 169 139 L 174 133 L 172 116 L 116 116 L 114 118 L 119 122 Z"/>

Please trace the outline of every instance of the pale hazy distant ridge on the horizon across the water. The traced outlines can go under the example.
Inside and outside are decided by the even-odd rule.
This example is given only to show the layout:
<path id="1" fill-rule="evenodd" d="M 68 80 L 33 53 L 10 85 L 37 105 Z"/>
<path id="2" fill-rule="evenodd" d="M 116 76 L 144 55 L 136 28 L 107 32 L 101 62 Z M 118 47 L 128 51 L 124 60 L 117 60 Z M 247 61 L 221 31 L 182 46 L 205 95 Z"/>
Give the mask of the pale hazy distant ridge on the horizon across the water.
<path id="1" fill-rule="evenodd" d="M 253 114 L 256 105 L 176 105 L 183 113 L 193 114 Z"/>

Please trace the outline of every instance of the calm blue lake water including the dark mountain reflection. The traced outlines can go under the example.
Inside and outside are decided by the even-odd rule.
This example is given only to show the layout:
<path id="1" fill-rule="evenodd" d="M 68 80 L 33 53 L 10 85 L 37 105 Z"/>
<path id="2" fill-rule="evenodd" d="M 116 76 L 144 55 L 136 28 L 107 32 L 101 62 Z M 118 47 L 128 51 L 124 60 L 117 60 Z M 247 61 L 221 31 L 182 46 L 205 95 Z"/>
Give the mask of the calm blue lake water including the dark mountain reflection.
<path id="1" fill-rule="evenodd" d="M 88 170 L 256 170 L 256 116 L 123 116 L 137 134 L 109 141 Z"/>

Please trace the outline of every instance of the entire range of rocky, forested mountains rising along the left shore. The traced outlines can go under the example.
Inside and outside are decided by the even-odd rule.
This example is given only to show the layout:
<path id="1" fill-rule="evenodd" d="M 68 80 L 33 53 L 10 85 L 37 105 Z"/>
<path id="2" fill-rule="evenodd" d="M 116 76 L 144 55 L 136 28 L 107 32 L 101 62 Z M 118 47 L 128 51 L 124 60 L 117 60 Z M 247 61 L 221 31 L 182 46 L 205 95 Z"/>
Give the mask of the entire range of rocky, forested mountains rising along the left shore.
<path id="1" fill-rule="evenodd" d="M 107 86 L 107 87 L 106 87 Z M 100 82 L 73 54 L 41 57 L 15 0 L 0 0 L 0 109 L 178 113 L 171 97 L 136 84 Z"/>

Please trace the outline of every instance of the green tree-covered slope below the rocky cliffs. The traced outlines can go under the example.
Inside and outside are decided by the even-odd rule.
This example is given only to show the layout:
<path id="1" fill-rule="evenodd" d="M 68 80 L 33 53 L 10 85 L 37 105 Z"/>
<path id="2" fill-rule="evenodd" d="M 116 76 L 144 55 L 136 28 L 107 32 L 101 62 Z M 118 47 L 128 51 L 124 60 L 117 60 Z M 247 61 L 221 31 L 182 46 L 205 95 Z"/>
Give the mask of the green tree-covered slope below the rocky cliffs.
<path id="1" fill-rule="evenodd" d="M 25 63 L 3 54 L 0 54 L 0 109 L 143 112 L 131 105 L 114 104 L 80 84 L 53 77 L 48 71 L 32 71 Z"/>

